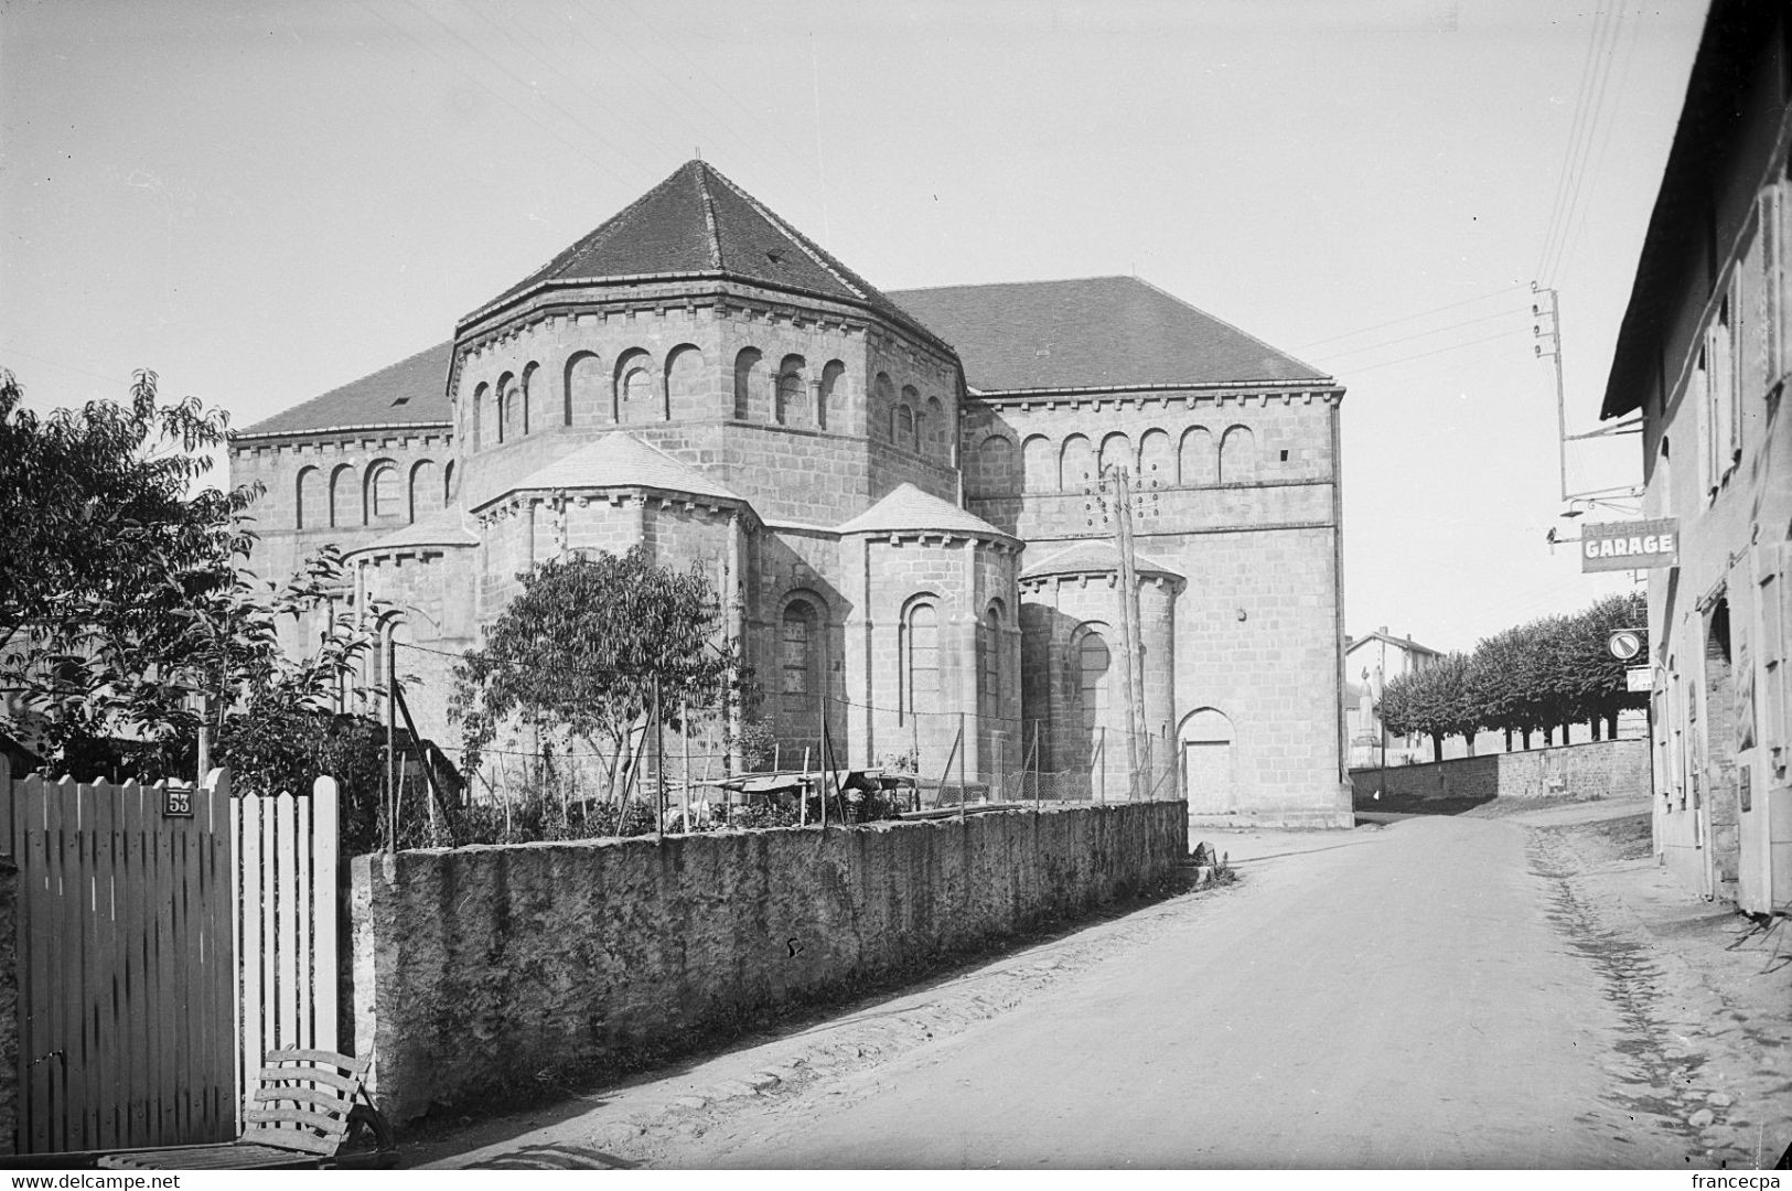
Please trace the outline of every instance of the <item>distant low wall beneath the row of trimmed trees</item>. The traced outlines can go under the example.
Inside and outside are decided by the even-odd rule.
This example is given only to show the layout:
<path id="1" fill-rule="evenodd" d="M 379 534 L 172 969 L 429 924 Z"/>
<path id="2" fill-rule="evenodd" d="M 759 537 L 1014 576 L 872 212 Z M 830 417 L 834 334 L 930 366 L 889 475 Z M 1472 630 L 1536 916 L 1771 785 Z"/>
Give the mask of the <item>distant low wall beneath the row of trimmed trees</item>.
<path id="1" fill-rule="evenodd" d="M 1649 741 L 1600 740 L 1557 749 L 1493 752 L 1430 765 L 1351 770 L 1357 810 L 1389 802 L 1505 799 L 1624 799 L 1649 795 Z M 1374 792 L 1382 799 L 1374 799 Z"/>

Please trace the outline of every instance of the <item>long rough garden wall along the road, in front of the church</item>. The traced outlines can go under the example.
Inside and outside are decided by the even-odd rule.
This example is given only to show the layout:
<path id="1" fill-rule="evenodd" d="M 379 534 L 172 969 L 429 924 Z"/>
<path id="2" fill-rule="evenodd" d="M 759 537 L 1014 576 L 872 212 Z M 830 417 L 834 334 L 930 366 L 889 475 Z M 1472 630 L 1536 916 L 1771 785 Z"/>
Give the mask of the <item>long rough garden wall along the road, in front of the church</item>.
<path id="1" fill-rule="evenodd" d="M 602 1073 L 1170 878 L 1186 806 L 358 856 L 355 1037 L 394 1119 Z"/>

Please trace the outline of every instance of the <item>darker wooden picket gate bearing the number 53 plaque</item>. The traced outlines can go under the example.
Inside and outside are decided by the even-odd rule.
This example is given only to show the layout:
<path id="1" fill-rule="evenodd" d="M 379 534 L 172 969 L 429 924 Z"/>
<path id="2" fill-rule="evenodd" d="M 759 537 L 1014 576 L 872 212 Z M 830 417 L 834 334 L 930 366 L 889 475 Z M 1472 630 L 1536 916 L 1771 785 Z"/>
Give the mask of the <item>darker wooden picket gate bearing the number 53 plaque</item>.
<path id="1" fill-rule="evenodd" d="M 18 1150 L 237 1130 L 229 777 L 201 790 L 11 779 L 20 869 Z"/>

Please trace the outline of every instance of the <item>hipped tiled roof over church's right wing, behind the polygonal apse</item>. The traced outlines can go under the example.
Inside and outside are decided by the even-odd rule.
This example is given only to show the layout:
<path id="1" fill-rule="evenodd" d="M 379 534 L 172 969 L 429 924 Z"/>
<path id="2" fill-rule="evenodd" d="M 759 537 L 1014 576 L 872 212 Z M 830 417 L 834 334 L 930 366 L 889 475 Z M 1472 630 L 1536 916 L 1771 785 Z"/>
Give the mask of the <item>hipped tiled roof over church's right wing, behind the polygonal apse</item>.
<path id="1" fill-rule="evenodd" d="M 982 392 L 1326 380 L 1138 278 L 896 290 Z"/>

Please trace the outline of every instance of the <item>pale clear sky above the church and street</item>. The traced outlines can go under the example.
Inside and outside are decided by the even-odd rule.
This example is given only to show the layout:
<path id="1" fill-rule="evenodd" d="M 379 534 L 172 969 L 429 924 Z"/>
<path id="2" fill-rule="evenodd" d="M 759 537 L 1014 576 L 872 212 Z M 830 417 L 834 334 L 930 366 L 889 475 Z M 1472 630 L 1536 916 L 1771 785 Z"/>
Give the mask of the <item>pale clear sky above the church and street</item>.
<path id="1" fill-rule="evenodd" d="M 11 0 L 0 364 L 246 426 L 701 149 L 880 288 L 1136 272 L 1333 373 L 1348 629 L 1469 648 L 1627 586 L 1545 544 L 1530 283 L 1590 430 L 1704 7 Z M 1615 446 L 1572 489 L 1638 482 Z"/>

